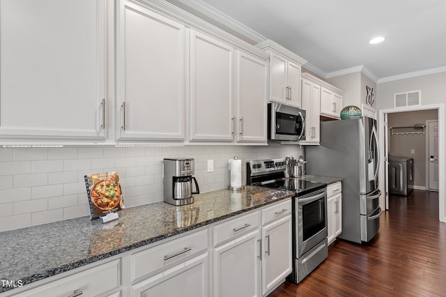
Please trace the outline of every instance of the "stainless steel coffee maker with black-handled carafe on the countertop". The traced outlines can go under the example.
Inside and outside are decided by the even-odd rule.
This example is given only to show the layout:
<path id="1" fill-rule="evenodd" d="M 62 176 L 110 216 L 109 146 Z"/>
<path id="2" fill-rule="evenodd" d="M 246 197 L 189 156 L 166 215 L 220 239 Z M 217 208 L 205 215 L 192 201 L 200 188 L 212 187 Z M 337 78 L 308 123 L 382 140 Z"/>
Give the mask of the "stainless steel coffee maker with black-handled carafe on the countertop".
<path id="1" fill-rule="evenodd" d="M 197 179 L 194 178 L 194 159 L 164 158 L 164 202 L 185 205 L 194 202 L 193 194 L 199 194 Z M 192 181 L 197 192 L 192 191 Z"/>

